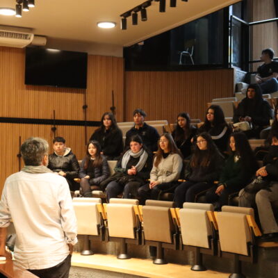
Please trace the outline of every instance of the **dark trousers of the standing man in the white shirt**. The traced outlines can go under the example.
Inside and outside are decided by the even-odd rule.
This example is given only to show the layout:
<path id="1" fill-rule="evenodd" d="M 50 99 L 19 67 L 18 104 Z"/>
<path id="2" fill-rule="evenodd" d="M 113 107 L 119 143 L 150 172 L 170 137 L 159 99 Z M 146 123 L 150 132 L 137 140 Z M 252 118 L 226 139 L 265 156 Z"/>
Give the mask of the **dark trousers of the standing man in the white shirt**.
<path id="1" fill-rule="evenodd" d="M 70 273 L 70 262 L 72 255 L 67 256 L 64 261 L 52 268 L 44 268 L 42 270 L 28 270 L 40 278 L 67 278 Z"/>

